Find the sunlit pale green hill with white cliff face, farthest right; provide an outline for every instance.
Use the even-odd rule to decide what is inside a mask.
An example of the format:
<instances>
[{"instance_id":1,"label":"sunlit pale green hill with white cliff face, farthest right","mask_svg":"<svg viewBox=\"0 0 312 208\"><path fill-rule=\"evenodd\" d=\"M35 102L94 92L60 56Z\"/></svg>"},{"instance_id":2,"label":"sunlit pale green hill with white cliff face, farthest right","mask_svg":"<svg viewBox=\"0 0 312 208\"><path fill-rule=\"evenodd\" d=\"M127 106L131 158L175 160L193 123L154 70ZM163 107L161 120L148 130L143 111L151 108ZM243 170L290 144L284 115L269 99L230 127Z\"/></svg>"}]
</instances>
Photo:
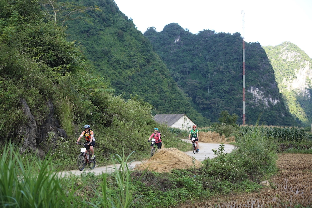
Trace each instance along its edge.
<instances>
[{"instance_id":1,"label":"sunlit pale green hill with white cliff face, farthest right","mask_svg":"<svg viewBox=\"0 0 312 208\"><path fill-rule=\"evenodd\" d=\"M312 60L298 46L284 42L264 47L287 107L298 123L312 123Z\"/></svg>"}]
</instances>

